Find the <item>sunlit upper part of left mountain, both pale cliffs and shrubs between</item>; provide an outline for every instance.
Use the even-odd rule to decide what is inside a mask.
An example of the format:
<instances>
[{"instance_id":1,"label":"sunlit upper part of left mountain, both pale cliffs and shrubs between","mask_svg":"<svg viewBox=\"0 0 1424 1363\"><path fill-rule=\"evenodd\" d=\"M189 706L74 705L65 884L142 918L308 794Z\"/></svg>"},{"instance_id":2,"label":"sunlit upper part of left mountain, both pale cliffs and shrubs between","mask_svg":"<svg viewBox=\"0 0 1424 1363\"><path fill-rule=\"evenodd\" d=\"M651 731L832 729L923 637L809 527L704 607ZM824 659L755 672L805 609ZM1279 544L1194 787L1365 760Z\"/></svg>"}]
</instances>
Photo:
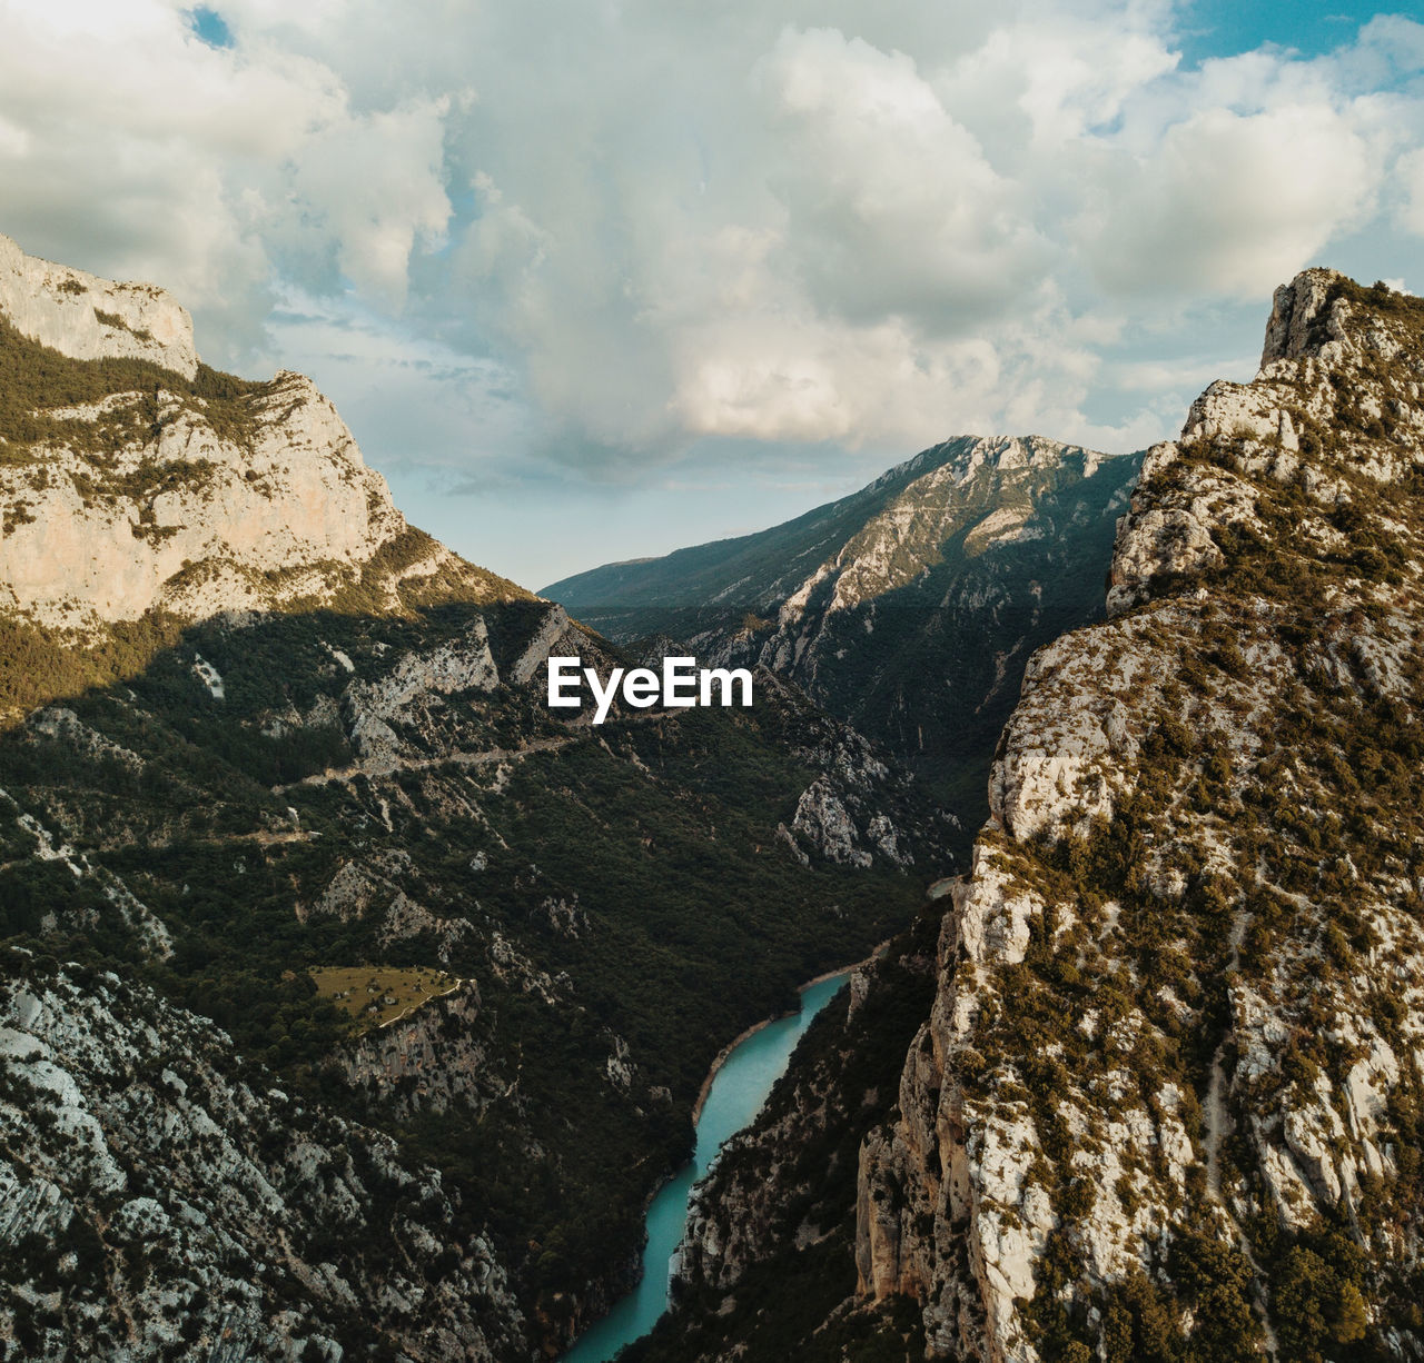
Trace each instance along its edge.
<instances>
[{"instance_id":1,"label":"sunlit upper part of left mountain, both pale cliffs and shrubs between","mask_svg":"<svg viewBox=\"0 0 1424 1363\"><path fill-rule=\"evenodd\" d=\"M31 344L17 368L47 364L56 388L85 394L7 394L0 610L94 637L155 612L205 619L355 590L376 608L430 583L524 595L406 525L309 378L199 374L188 314L162 290L0 238L0 320L7 346ZM147 364L95 368L115 360Z\"/></svg>"}]
</instances>

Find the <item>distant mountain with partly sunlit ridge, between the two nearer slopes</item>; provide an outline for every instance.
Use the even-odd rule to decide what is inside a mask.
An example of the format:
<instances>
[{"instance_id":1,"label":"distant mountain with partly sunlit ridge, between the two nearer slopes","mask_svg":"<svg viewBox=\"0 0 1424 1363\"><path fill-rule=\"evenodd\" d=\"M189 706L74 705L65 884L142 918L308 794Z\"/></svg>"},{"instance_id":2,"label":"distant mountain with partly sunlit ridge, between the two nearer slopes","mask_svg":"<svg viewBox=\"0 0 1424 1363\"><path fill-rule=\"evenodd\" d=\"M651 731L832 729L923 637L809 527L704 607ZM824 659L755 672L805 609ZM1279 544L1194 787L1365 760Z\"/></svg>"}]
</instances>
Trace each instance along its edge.
<instances>
[{"instance_id":1,"label":"distant mountain with partly sunlit ridge, between the two nearer slopes","mask_svg":"<svg viewBox=\"0 0 1424 1363\"><path fill-rule=\"evenodd\" d=\"M1030 654L1102 615L1139 464L965 435L773 529L543 590L611 639L776 670L977 827Z\"/></svg>"}]
</instances>

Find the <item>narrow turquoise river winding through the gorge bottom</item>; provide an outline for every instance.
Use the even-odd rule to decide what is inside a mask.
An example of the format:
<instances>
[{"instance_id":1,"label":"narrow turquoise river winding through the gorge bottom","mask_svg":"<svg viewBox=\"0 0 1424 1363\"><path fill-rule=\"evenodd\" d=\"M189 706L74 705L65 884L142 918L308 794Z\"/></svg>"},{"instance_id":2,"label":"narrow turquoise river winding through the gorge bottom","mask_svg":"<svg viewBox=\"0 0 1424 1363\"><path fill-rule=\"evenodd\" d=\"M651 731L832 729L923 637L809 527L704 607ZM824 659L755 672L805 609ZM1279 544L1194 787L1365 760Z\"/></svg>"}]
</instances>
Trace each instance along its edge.
<instances>
[{"instance_id":1,"label":"narrow turquoise river winding through the gorge bottom","mask_svg":"<svg viewBox=\"0 0 1424 1363\"><path fill-rule=\"evenodd\" d=\"M692 1162L658 1189L648 1206L648 1246L642 1252L642 1280L602 1320L582 1335L562 1363L607 1363L624 1345L641 1339L668 1308L668 1280L674 1251L688 1224L692 1185L706 1174L722 1142L736 1135L760 1111L772 1084L780 1077L810 1020L846 983L850 970L807 985L802 1009L778 1017L743 1037L712 1078Z\"/></svg>"}]
</instances>

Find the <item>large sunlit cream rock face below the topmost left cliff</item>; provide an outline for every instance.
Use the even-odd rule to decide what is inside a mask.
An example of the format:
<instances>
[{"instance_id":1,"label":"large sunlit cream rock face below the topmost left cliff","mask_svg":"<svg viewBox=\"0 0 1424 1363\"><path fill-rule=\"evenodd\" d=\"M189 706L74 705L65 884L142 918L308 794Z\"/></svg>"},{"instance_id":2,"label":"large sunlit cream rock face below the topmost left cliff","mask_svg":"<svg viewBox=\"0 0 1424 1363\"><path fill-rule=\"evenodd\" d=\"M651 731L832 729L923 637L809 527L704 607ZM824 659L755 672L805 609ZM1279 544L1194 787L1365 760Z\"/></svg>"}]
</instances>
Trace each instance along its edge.
<instances>
[{"instance_id":1,"label":"large sunlit cream rock face below the topmost left cliff","mask_svg":"<svg viewBox=\"0 0 1424 1363\"><path fill-rule=\"evenodd\" d=\"M6 605L83 629L158 608L205 617L320 599L406 531L384 478L299 374L278 376L255 404L248 448L175 398L159 398L158 420L157 440L117 451L112 495L63 448L4 470L4 497L30 516L0 539ZM159 484L147 504L121 494L144 478Z\"/></svg>"}]
</instances>

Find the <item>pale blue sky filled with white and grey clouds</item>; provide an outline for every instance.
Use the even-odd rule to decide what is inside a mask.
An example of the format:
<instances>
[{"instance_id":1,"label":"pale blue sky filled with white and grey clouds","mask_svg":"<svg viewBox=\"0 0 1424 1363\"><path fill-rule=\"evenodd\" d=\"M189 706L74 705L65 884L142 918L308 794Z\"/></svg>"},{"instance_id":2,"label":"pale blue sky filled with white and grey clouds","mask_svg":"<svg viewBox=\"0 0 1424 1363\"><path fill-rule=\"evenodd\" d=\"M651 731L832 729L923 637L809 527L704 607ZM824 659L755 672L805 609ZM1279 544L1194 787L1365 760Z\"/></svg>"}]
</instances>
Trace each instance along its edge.
<instances>
[{"instance_id":1,"label":"pale blue sky filled with white and grey clouds","mask_svg":"<svg viewBox=\"0 0 1424 1363\"><path fill-rule=\"evenodd\" d=\"M1415 11L1417 13L1417 11ZM525 586L953 435L1105 451L1424 292L1424 24L1225 0L0 0L0 232L312 374Z\"/></svg>"}]
</instances>

